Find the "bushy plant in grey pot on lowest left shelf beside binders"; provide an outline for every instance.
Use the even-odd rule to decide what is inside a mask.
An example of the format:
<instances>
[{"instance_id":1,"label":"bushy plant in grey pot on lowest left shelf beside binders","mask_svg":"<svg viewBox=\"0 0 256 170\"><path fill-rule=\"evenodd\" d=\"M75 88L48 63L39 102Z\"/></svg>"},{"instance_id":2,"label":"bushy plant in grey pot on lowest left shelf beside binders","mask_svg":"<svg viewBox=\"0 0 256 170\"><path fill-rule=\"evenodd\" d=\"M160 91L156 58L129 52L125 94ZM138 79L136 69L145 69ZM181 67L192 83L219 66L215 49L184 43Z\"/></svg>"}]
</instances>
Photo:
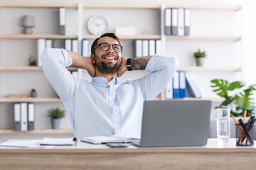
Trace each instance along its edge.
<instances>
[{"instance_id":1,"label":"bushy plant in grey pot on lowest left shelf beside binders","mask_svg":"<svg viewBox=\"0 0 256 170\"><path fill-rule=\"evenodd\" d=\"M51 118L51 125L53 129L60 128L60 120L65 117L65 111L61 111L60 108L52 108L50 109L49 117Z\"/></svg>"}]
</instances>

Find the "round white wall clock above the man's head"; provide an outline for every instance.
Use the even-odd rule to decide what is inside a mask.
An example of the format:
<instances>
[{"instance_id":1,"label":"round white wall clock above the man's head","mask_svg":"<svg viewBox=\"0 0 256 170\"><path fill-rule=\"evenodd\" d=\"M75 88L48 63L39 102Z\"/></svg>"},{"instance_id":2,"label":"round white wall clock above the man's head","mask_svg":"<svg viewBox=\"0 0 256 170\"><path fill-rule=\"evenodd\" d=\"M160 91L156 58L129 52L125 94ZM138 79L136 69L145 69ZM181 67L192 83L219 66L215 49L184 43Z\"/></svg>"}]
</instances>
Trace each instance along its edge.
<instances>
[{"instance_id":1,"label":"round white wall clock above the man's head","mask_svg":"<svg viewBox=\"0 0 256 170\"><path fill-rule=\"evenodd\" d=\"M107 20L102 16L92 16L87 22L87 29L91 34L102 35L107 30Z\"/></svg>"}]
</instances>

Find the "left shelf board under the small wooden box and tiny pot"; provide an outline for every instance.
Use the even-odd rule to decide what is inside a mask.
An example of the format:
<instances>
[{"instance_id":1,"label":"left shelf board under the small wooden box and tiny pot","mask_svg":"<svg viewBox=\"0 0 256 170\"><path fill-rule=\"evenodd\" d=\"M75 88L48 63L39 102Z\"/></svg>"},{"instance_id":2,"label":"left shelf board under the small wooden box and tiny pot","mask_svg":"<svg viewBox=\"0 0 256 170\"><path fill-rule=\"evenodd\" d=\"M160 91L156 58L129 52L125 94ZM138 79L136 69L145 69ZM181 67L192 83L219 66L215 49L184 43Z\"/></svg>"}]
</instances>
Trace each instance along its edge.
<instances>
[{"instance_id":1,"label":"left shelf board under the small wooden box and tiny pot","mask_svg":"<svg viewBox=\"0 0 256 170\"><path fill-rule=\"evenodd\" d=\"M14 102L34 102L34 103L52 103L61 102L60 98L0 98L0 103L14 103Z\"/></svg>"}]
</instances>

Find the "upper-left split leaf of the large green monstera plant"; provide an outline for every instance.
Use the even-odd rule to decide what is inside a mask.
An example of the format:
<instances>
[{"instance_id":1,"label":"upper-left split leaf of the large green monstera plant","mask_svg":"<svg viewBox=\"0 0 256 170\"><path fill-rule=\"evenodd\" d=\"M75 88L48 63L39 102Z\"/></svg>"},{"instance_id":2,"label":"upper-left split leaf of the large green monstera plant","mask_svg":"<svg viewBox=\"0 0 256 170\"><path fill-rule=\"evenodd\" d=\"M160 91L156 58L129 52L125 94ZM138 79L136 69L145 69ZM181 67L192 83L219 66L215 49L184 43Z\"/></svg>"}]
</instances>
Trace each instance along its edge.
<instances>
[{"instance_id":1,"label":"upper-left split leaf of the large green monstera plant","mask_svg":"<svg viewBox=\"0 0 256 170\"><path fill-rule=\"evenodd\" d=\"M223 79L213 79L210 82L215 84L215 85L211 85L211 87L215 88L213 89L213 91L216 92L218 96L223 98L228 97L228 91L227 91L228 81Z\"/></svg>"}]
</instances>

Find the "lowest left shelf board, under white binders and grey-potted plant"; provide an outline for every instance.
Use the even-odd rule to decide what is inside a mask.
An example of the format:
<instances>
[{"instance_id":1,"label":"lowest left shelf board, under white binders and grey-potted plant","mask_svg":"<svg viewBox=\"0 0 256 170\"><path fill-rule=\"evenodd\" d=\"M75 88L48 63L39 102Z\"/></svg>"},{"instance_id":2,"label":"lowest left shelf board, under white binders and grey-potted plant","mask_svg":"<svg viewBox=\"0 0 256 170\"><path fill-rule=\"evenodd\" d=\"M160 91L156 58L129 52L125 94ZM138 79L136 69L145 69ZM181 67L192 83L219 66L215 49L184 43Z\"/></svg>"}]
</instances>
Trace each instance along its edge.
<instances>
[{"instance_id":1,"label":"lowest left shelf board, under white binders and grey-potted plant","mask_svg":"<svg viewBox=\"0 0 256 170\"><path fill-rule=\"evenodd\" d=\"M63 135L73 135L73 130L71 130L71 129L39 129L39 130L17 131L17 130L11 130L11 129L1 129L0 134L2 134L2 135L19 135L19 134L31 134L31 135L63 134Z\"/></svg>"}]
</instances>

